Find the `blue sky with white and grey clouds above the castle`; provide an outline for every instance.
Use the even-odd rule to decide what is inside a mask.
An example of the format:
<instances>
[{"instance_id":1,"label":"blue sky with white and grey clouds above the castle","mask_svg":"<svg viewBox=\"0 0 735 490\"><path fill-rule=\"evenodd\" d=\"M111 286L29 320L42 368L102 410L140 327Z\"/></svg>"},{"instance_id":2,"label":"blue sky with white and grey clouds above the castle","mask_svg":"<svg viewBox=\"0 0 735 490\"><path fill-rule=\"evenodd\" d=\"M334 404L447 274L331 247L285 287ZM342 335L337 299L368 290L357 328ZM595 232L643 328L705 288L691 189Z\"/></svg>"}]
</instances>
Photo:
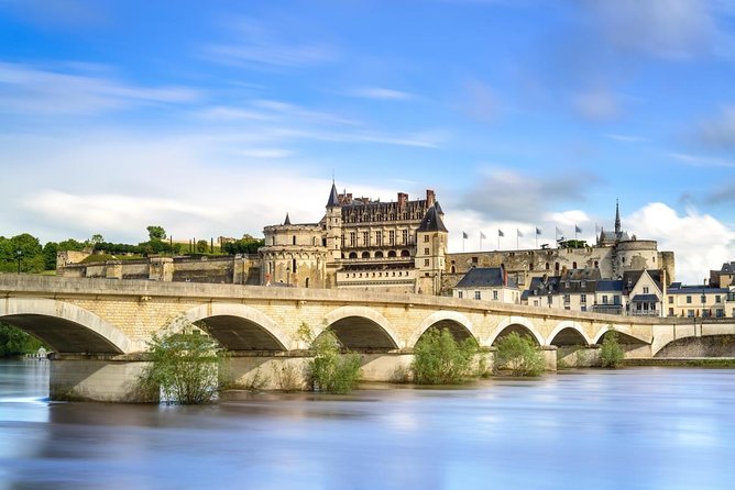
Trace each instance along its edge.
<instances>
[{"instance_id":1,"label":"blue sky with white and grey clouds above the castle","mask_svg":"<svg viewBox=\"0 0 735 490\"><path fill-rule=\"evenodd\" d=\"M450 252L619 200L698 283L735 260L734 81L728 0L0 0L0 235L260 237L334 179L434 189Z\"/></svg>"}]
</instances>

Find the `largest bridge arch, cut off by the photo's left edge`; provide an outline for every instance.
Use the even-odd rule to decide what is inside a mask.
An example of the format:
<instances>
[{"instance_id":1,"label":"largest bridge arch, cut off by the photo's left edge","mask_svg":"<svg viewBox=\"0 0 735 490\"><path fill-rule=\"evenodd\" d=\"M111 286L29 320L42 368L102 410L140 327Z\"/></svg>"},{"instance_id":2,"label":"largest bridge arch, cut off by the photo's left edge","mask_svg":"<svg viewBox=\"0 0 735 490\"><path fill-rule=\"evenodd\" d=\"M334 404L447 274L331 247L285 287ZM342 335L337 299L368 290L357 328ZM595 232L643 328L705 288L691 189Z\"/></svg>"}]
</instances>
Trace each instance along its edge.
<instances>
[{"instance_id":1,"label":"largest bridge arch, cut off by the photo's left edge","mask_svg":"<svg viewBox=\"0 0 735 490\"><path fill-rule=\"evenodd\" d=\"M45 298L0 301L0 321L67 354L130 354L144 350L113 324L76 304Z\"/></svg>"}]
</instances>

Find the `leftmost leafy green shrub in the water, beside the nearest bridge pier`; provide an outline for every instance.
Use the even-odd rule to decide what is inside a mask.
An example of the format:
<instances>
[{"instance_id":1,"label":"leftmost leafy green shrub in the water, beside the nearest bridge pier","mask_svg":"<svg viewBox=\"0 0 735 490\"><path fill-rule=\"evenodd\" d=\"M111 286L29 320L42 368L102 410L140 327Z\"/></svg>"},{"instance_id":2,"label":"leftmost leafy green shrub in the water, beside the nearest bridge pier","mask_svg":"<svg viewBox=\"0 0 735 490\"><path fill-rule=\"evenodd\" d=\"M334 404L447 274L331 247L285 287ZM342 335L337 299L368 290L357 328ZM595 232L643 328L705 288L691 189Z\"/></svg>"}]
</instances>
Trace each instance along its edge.
<instances>
[{"instance_id":1,"label":"leftmost leafy green shrub in the water, beside the nearest bridge pier","mask_svg":"<svg viewBox=\"0 0 735 490\"><path fill-rule=\"evenodd\" d=\"M213 338L199 333L154 335L149 342L150 366L139 382L160 390L166 402L211 403L219 389L222 349Z\"/></svg>"}]
</instances>

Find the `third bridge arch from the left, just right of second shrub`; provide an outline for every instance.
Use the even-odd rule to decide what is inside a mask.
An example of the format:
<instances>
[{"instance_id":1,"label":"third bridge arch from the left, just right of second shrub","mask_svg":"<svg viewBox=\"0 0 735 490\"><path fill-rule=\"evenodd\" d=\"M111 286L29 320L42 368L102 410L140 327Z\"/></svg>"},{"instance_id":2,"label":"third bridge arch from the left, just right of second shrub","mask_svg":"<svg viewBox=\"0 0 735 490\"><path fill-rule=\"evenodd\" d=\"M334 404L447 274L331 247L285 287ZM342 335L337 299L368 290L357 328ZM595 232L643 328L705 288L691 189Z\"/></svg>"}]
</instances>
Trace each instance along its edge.
<instances>
[{"instance_id":1,"label":"third bridge arch from the left, just right of second shrub","mask_svg":"<svg viewBox=\"0 0 735 490\"><path fill-rule=\"evenodd\" d=\"M393 350L401 346L391 323L372 308L341 307L327 313L322 323L352 350Z\"/></svg>"}]
</instances>

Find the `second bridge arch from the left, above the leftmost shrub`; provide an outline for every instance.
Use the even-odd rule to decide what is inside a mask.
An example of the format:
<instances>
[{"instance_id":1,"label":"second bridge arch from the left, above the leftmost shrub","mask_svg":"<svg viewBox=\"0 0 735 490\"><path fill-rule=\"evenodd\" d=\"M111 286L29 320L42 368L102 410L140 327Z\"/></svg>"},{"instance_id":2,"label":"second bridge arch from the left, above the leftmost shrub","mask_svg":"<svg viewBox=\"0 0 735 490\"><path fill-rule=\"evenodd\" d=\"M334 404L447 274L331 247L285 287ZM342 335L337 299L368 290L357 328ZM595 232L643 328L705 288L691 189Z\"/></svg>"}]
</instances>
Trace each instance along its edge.
<instances>
[{"instance_id":1,"label":"second bridge arch from the left, above the leftmost shrub","mask_svg":"<svg viewBox=\"0 0 735 490\"><path fill-rule=\"evenodd\" d=\"M186 321L204 321L207 332L228 350L290 350L295 347L292 337L273 319L244 304L200 304L168 327L177 332Z\"/></svg>"}]
</instances>

